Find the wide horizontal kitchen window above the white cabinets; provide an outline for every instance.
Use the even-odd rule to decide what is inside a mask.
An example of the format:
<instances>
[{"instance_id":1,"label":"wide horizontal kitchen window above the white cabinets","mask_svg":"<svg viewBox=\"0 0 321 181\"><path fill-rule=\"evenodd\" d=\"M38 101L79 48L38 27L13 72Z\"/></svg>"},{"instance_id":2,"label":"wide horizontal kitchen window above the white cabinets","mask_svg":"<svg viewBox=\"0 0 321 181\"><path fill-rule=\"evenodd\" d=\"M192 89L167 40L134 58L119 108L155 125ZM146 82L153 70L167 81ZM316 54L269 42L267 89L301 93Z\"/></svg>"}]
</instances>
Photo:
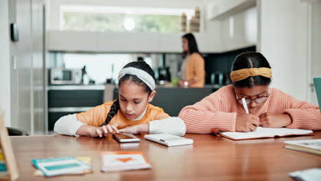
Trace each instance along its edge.
<instances>
[{"instance_id":1,"label":"wide horizontal kitchen window above the white cabinets","mask_svg":"<svg viewBox=\"0 0 321 181\"><path fill-rule=\"evenodd\" d=\"M62 5L60 29L87 32L181 32L181 15L192 9Z\"/></svg>"}]
</instances>

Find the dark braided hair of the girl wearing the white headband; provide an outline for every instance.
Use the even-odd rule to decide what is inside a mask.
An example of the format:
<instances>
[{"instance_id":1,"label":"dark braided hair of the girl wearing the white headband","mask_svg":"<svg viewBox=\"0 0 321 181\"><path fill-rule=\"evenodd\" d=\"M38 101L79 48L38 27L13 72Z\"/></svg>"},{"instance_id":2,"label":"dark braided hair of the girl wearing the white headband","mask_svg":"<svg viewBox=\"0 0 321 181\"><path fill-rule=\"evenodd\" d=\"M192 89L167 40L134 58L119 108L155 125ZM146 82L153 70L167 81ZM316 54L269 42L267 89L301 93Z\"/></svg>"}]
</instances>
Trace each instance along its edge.
<instances>
[{"instance_id":1,"label":"dark braided hair of the girl wearing the white headband","mask_svg":"<svg viewBox=\"0 0 321 181\"><path fill-rule=\"evenodd\" d=\"M130 62L130 63L126 64L123 67L123 69L127 68L127 67L134 67L136 69L141 69L141 70L147 72L148 74L150 74L153 77L153 79L155 80L155 73L154 73L153 69L150 67L150 65L148 65L146 62L143 62L143 61ZM119 80L118 87L121 86L121 83L128 81L128 80L130 80L131 82L134 82L135 84L137 84L139 86L143 86L145 92L148 93L148 95L150 95L150 93L152 93L152 89L150 89L150 87L147 86L147 84L145 84L145 82L140 80L139 77L137 77L136 75L128 75L128 74L124 75ZM119 98L117 98L116 101L110 107L110 111L107 114L106 121L102 125L108 125L108 123L112 119L112 117L114 117L115 114L117 114L117 111L119 110L119 108L120 108L119 107Z\"/></svg>"}]
</instances>

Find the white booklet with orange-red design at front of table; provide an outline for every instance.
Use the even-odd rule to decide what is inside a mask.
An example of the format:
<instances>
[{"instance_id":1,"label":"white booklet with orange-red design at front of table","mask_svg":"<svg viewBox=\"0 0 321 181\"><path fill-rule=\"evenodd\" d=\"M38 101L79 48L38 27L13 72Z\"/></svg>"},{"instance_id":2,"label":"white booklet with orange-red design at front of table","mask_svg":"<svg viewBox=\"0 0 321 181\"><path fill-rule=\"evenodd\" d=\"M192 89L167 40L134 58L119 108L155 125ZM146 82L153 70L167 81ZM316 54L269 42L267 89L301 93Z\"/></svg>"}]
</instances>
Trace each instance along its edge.
<instances>
[{"instance_id":1,"label":"white booklet with orange-red design at front of table","mask_svg":"<svg viewBox=\"0 0 321 181\"><path fill-rule=\"evenodd\" d=\"M150 169L143 152L103 152L102 171Z\"/></svg>"}]
</instances>

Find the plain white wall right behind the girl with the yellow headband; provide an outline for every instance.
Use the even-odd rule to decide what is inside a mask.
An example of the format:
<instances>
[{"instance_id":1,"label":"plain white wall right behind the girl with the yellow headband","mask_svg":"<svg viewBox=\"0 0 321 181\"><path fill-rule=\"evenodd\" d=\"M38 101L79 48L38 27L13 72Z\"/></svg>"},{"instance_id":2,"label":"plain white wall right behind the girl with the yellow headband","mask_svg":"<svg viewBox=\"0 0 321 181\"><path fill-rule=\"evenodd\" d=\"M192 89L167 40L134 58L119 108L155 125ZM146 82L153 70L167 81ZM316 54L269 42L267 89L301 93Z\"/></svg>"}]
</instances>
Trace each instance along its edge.
<instances>
[{"instance_id":1,"label":"plain white wall right behind the girl with the yellow headband","mask_svg":"<svg viewBox=\"0 0 321 181\"><path fill-rule=\"evenodd\" d=\"M259 43L272 67L272 87L307 100L308 4L300 0L259 0Z\"/></svg>"}]
</instances>

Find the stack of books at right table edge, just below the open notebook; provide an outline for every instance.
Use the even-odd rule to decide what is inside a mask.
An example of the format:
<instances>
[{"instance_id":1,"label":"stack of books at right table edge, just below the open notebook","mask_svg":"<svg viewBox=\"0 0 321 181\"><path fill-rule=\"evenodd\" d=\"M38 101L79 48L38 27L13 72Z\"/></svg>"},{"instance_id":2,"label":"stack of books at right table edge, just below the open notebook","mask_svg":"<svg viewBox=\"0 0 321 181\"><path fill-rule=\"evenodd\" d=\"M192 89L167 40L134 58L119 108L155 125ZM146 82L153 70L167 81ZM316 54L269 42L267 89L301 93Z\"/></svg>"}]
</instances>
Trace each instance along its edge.
<instances>
[{"instance_id":1,"label":"stack of books at right table edge, just below the open notebook","mask_svg":"<svg viewBox=\"0 0 321 181\"><path fill-rule=\"evenodd\" d=\"M321 155L321 139L309 139L298 141L285 141L288 149L294 149L300 152Z\"/></svg>"}]
</instances>

